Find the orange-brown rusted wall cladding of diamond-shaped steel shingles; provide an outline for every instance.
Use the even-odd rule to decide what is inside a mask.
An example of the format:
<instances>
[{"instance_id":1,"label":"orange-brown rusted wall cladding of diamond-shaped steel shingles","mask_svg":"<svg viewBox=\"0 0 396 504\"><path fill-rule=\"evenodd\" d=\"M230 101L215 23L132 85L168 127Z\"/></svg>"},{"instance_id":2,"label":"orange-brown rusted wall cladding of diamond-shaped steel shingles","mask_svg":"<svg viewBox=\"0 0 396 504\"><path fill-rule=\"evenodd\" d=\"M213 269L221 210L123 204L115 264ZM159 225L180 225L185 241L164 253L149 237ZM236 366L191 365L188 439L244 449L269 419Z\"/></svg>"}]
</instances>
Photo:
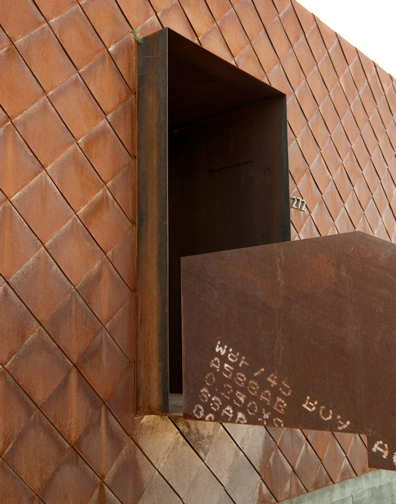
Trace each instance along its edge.
<instances>
[{"instance_id":1,"label":"orange-brown rusted wall cladding of diamond-shaped steel shingles","mask_svg":"<svg viewBox=\"0 0 396 504\"><path fill-rule=\"evenodd\" d=\"M369 469L360 435L134 417L140 36L287 95L292 239L396 238L396 81L290 0L0 3L0 501L276 502Z\"/></svg>"}]
</instances>

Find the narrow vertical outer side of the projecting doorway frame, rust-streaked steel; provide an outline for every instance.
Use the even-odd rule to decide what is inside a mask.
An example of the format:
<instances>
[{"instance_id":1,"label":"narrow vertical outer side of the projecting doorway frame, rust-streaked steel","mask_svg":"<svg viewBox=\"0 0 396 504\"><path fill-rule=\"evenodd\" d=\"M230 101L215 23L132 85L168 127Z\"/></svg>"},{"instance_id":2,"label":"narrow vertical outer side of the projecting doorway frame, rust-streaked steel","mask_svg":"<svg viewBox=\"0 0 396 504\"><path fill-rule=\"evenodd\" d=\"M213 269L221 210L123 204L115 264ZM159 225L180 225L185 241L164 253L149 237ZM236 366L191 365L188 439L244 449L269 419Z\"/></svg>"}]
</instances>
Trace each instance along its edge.
<instances>
[{"instance_id":1,"label":"narrow vertical outer side of the projecting doorway frame, rust-streaked steel","mask_svg":"<svg viewBox=\"0 0 396 504\"><path fill-rule=\"evenodd\" d=\"M139 47L137 409L168 410L168 34Z\"/></svg>"}]
</instances>

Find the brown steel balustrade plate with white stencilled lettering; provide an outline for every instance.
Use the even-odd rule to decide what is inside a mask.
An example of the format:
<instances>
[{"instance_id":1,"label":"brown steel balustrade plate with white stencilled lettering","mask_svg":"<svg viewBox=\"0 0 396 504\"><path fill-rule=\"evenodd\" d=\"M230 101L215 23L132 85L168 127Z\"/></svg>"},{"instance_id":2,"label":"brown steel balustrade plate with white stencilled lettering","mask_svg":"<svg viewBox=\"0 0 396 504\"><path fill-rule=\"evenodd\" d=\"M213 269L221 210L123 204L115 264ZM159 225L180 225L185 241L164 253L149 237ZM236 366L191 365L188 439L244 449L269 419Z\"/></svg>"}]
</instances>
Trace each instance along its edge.
<instances>
[{"instance_id":1,"label":"brown steel balustrade plate with white stencilled lettering","mask_svg":"<svg viewBox=\"0 0 396 504\"><path fill-rule=\"evenodd\" d=\"M395 264L359 232L182 258L184 416L364 433L396 469Z\"/></svg>"}]
</instances>

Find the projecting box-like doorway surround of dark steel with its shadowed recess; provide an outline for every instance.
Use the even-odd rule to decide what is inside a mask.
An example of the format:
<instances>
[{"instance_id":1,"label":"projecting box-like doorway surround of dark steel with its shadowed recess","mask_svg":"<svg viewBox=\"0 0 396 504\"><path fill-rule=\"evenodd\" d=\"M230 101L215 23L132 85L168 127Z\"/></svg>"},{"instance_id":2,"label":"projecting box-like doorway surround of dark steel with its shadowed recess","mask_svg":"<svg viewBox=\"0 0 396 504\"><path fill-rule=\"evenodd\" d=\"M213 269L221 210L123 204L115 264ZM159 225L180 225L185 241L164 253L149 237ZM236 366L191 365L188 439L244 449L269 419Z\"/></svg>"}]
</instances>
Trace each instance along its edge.
<instances>
[{"instance_id":1,"label":"projecting box-like doorway surround of dark steel with its shadowed recess","mask_svg":"<svg viewBox=\"0 0 396 504\"><path fill-rule=\"evenodd\" d=\"M138 53L137 405L182 392L180 257L290 239L286 97L170 29Z\"/></svg>"}]
</instances>

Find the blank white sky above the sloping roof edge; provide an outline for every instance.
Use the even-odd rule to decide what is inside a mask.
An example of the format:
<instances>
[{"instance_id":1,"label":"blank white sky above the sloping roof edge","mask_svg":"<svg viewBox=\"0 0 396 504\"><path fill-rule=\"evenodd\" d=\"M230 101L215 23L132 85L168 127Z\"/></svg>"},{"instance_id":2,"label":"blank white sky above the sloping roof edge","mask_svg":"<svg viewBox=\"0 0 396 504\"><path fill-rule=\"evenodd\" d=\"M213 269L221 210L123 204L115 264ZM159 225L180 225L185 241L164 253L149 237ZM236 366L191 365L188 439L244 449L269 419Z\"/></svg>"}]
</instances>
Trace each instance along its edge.
<instances>
[{"instance_id":1,"label":"blank white sky above the sloping roof edge","mask_svg":"<svg viewBox=\"0 0 396 504\"><path fill-rule=\"evenodd\" d=\"M396 77L396 0L298 0Z\"/></svg>"}]
</instances>

